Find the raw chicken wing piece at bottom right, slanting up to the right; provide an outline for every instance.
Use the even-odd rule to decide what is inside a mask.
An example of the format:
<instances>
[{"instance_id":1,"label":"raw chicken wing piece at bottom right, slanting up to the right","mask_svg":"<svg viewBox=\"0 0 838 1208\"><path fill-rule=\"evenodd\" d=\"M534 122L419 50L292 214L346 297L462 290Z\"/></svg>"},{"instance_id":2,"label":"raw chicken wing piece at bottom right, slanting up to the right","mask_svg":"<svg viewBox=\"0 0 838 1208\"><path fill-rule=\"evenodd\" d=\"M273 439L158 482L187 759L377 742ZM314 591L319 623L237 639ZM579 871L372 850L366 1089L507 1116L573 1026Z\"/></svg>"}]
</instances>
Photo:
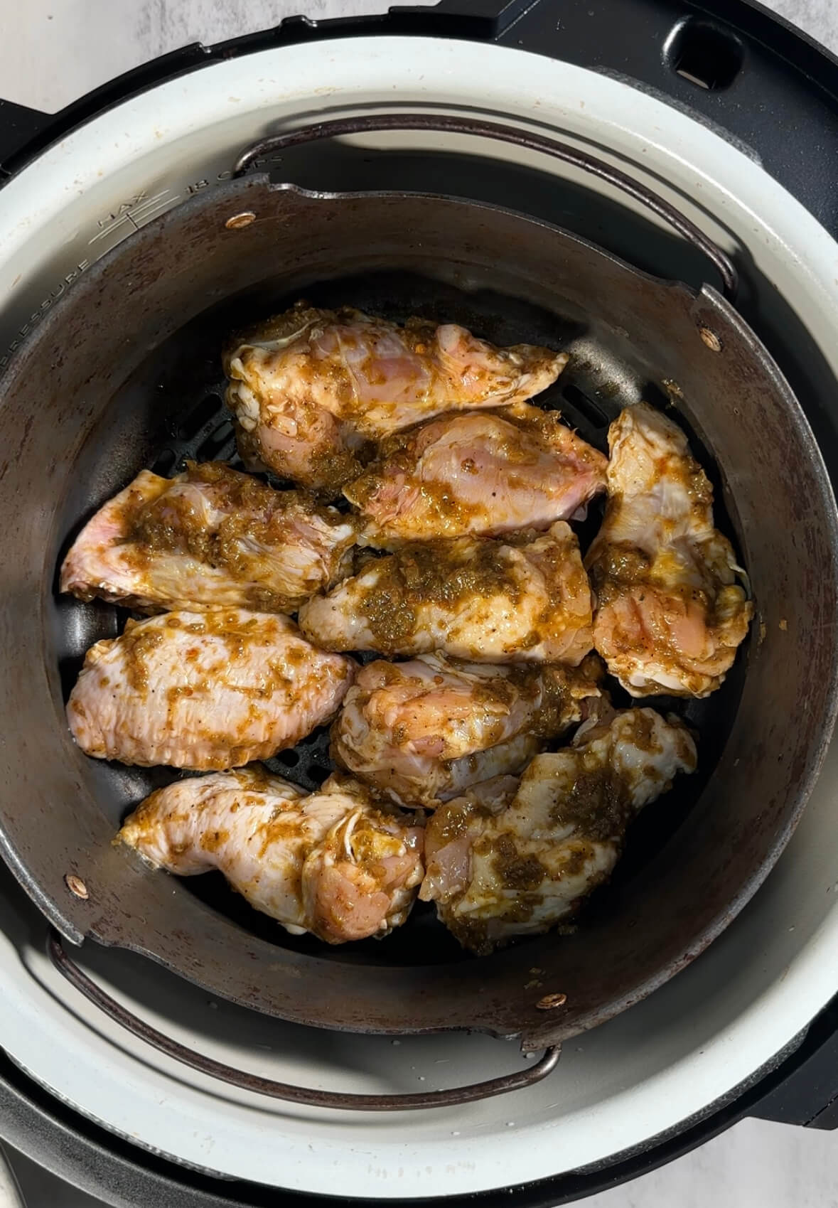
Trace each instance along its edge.
<instances>
[{"instance_id":1,"label":"raw chicken wing piece at bottom right, slanting up to the right","mask_svg":"<svg viewBox=\"0 0 838 1208\"><path fill-rule=\"evenodd\" d=\"M571 747L536 755L517 790L477 785L431 815L419 896L472 952L571 916L610 877L635 814L694 771L696 744L677 719L604 712Z\"/></svg>"}]
</instances>

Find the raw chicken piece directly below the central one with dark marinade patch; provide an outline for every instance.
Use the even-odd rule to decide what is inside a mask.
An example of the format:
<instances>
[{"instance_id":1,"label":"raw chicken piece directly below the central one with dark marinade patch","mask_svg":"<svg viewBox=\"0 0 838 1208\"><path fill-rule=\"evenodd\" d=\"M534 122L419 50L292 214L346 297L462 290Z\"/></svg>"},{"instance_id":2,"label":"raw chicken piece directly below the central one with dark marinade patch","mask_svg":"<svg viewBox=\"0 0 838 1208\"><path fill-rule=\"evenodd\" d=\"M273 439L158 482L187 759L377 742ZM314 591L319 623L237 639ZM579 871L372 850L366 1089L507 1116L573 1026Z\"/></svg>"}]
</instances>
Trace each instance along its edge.
<instances>
[{"instance_id":1,"label":"raw chicken piece directly below the central one with dark marinade patch","mask_svg":"<svg viewBox=\"0 0 838 1208\"><path fill-rule=\"evenodd\" d=\"M578 669L420 655L368 663L332 725L332 757L405 806L435 807L520 772L599 696L595 655Z\"/></svg>"}]
</instances>

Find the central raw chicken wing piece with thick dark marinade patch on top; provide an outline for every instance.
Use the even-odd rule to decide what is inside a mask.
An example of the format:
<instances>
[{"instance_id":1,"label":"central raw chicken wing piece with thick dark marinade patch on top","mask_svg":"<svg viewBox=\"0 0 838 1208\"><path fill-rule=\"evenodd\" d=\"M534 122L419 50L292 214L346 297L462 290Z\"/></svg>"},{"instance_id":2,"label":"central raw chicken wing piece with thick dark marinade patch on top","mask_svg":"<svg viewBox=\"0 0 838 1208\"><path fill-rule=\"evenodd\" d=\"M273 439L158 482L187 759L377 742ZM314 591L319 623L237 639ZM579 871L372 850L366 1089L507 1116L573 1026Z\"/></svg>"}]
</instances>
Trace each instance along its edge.
<instances>
[{"instance_id":1,"label":"central raw chicken wing piece with thick dark marinade patch on top","mask_svg":"<svg viewBox=\"0 0 838 1208\"><path fill-rule=\"evenodd\" d=\"M576 538L559 521L517 540L429 541L373 558L304 604L299 626L324 650L577 666L592 646L593 597Z\"/></svg>"}]
</instances>

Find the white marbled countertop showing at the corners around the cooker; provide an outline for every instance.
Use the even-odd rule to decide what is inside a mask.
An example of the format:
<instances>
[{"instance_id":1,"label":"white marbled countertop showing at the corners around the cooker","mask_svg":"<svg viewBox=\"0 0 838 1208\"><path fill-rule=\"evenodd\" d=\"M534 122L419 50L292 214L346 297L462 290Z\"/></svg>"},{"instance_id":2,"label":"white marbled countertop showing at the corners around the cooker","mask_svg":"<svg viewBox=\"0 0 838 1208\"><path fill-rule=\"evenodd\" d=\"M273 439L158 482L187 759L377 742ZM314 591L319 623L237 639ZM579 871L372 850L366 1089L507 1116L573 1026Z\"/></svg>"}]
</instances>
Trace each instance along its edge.
<instances>
[{"instance_id":1,"label":"white marbled countertop showing at the corners around the cooker","mask_svg":"<svg viewBox=\"0 0 838 1208\"><path fill-rule=\"evenodd\" d=\"M417 0L412 0L417 2ZM764 2L764 0L763 0ZM838 0L767 0L838 53ZM139 63L312 17L379 12L386 0L0 0L0 95L54 111ZM94 1202L12 1155L29 1208ZM586 1208L834 1208L838 1133L747 1120Z\"/></svg>"}]
</instances>

